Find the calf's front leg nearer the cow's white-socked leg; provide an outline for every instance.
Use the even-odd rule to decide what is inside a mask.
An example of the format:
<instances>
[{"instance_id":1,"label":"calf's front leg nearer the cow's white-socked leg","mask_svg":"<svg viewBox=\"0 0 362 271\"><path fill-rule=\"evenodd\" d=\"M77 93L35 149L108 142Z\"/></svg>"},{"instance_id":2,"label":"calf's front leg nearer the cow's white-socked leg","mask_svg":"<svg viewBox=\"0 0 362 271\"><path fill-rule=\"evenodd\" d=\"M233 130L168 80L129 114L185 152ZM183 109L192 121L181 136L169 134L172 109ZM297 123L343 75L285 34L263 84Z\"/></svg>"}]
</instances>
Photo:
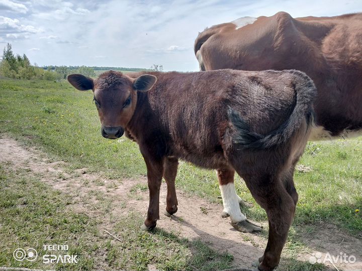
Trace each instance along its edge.
<instances>
[{"instance_id":1,"label":"calf's front leg nearer the cow's white-socked leg","mask_svg":"<svg viewBox=\"0 0 362 271\"><path fill-rule=\"evenodd\" d=\"M163 162L163 178L167 184L166 211L165 215L170 216L177 212L177 196L175 179L177 175L178 160L167 157Z\"/></svg>"}]
</instances>

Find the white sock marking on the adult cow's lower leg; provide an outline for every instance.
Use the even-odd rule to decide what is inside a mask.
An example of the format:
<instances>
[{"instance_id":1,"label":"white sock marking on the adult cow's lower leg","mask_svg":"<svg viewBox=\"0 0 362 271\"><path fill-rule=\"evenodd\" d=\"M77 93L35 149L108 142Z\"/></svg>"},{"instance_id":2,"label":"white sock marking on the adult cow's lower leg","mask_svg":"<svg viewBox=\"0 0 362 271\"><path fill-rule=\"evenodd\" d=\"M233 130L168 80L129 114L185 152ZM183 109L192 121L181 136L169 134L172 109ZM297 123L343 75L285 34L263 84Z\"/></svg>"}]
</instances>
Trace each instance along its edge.
<instances>
[{"instance_id":1,"label":"white sock marking on the adult cow's lower leg","mask_svg":"<svg viewBox=\"0 0 362 271\"><path fill-rule=\"evenodd\" d=\"M239 196L236 195L234 183L220 185L221 197L223 199L224 212L230 215L232 222L243 221L246 219L240 211ZM241 200L241 199L240 199Z\"/></svg>"}]
</instances>

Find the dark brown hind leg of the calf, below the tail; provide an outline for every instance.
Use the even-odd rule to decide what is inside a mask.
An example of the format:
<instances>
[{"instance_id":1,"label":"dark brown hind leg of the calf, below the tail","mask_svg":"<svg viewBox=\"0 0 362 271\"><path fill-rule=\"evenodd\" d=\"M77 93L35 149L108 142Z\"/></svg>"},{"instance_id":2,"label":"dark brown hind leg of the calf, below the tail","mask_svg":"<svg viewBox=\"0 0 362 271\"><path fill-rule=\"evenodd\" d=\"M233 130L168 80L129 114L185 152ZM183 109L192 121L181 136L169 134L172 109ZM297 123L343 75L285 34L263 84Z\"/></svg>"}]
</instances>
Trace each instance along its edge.
<instances>
[{"instance_id":1,"label":"dark brown hind leg of the calf, below the tail","mask_svg":"<svg viewBox=\"0 0 362 271\"><path fill-rule=\"evenodd\" d=\"M289 228L292 224L295 206L296 191L287 191L291 187L293 178L282 180L280 176L263 176L244 178L247 187L256 202L266 211L269 223L269 237L262 257L259 258L258 268L261 271L273 270L280 261L282 249L287 240ZM294 184L293 184L294 187Z\"/></svg>"}]
</instances>

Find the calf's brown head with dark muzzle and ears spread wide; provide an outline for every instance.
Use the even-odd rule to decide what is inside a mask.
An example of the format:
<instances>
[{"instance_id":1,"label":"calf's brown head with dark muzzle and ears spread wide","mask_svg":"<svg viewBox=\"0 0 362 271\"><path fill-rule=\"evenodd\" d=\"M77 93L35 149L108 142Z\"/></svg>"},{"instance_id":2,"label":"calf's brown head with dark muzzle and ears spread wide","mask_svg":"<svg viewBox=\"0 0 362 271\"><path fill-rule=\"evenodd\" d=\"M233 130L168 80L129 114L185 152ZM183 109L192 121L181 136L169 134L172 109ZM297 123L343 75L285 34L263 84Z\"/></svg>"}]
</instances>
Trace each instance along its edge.
<instances>
[{"instance_id":1,"label":"calf's brown head with dark muzzle and ears spread wide","mask_svg":"<svg viewBox=\"0 0 362 271\"><path fill-rule=\"evenodd\" d=\"M102 124L101 133L106 139L122 137L135 112L137 92L148 91L156 82L153 75L130 78L115 71L105 72L97 79L81 74L71 74L67 79L76 89L93 90Z\"/></svg>"}]
</instances>

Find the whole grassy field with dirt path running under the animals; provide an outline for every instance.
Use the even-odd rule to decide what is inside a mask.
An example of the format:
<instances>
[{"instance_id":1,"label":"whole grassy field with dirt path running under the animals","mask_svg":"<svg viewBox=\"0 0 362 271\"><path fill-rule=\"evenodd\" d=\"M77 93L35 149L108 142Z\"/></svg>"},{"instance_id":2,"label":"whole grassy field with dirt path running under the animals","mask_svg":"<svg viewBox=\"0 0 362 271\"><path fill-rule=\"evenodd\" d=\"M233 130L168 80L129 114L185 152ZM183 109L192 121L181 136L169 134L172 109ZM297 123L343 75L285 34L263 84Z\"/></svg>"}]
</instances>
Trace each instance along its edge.
<instances>
[{"instance_id":1,"label":"whole grassy field with dirt path running under the animals","mask_svg":"<svg viewBox=\"0 0 362 271\"><path fill-rule=\"evenodd\" d=\"M67 82L0 80L0 266L59 270L222 270L251 267L267 239L265 212L237 178L243 209L264 230L244 234L220 217L215 172L181 162L179 211L152 232L146 168L135 143L101 137L92 92ZM281 270L362 269L362 138L309 143L295 173L296 217ZM165 187L160 197L164 209ZM359 211L361 210L361 211ZM67 244L77 263L16 261L18 247ZM315 252L356 262L311 264ZM61 253L61 251L56 251ZM314 255L314 254L313 254Z\"/></svg>"}]
</instances>

